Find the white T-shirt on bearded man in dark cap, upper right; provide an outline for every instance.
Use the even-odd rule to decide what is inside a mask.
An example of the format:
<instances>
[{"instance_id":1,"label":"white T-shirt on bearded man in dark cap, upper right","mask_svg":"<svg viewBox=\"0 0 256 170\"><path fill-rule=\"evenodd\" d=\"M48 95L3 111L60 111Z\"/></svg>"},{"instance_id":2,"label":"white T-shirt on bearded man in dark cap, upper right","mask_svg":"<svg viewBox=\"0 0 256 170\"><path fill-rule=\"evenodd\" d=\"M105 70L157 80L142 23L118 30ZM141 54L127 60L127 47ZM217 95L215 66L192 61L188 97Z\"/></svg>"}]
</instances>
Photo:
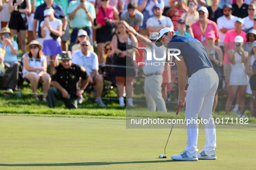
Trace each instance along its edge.
<instances>
[{"instance_id":1,"label":"white T-shirt on bearded man in dark cap, upper right","mask_svg":"<svg viewBox=\"0 0 256 170\"><path fill-rule=\"evenodd\" d=\"M230 19L227 19L225 16L221 16L217 19L217 25L219 30L222 28L234 29L237 19L237 16L231 16ZM220 31L220 46L223 46L225 35L225 33Z\"/></svg>"}]
</instances>

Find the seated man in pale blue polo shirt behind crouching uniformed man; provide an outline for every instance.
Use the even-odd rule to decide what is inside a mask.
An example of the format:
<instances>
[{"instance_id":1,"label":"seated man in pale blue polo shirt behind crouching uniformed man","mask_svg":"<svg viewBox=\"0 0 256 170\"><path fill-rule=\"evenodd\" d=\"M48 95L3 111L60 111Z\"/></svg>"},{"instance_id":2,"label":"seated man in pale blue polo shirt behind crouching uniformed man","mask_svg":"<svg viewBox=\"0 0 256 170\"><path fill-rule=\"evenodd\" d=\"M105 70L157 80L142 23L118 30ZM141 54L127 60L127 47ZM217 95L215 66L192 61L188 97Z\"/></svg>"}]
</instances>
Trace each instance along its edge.
<instances>
[{"instance_id":1,"label":"seated man in pale blue polo shirt behind crouching uniformed man","mask_svg":"<svg viewBox=\"0 0 256 170\"><path fill-rule=\"evenodd\" d=\"M100 98L103 90L103 78L98 74L99 63L97 54L89 50L91 45L90 41L83 40L80 44L81 50L77 50L72 54L72 62L83 66L87 73L91 75L90 83L96 85L95 103L101 106L106 106Z\"/></svg>"}]
</instances>

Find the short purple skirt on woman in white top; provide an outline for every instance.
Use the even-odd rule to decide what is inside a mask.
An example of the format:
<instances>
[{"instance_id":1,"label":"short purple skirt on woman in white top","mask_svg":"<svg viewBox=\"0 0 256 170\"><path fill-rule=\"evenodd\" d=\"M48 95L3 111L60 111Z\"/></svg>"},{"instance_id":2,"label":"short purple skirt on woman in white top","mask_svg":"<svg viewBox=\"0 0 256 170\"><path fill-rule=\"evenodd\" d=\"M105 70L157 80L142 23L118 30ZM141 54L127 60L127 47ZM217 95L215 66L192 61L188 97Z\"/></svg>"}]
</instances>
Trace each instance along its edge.
<instances>
[{"instance_id":1,"label":"short purple skirt on woman in white top","mask_svg":"<svg viewBox=\"0 0 256 170\"><path fill-rule=\"evenodd\" d=\"M44 40L42 52L45 55L56 56L62 54L62 47L57 40Z\"/></svg>"}]
</instances>

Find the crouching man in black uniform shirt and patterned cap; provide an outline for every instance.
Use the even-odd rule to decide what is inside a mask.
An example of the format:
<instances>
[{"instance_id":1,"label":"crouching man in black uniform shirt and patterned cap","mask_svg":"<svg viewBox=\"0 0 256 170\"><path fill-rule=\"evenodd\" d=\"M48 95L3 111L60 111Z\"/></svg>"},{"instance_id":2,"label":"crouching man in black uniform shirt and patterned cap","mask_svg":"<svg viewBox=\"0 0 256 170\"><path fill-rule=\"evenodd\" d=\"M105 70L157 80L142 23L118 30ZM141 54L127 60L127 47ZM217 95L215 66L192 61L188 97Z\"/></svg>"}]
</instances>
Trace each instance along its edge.
<instances>
[{"instance_id":1,"label":"crouching man in black uniform shirt and patterned cap","mask_svg":"<svg viewBox=\"0 0 256 170\"><path fill-rule=\"evenodd\" d=\"M52 87L48 91L48 106L55 107L56 98L64 101L68 109L78 108L78 97L83 94L89 83L89 76L83 66L72 64L71 52L62 51L62 63L55 67L52 73ZM83 84L77 88L79 78Z\"/></svg>"}]
</instances>

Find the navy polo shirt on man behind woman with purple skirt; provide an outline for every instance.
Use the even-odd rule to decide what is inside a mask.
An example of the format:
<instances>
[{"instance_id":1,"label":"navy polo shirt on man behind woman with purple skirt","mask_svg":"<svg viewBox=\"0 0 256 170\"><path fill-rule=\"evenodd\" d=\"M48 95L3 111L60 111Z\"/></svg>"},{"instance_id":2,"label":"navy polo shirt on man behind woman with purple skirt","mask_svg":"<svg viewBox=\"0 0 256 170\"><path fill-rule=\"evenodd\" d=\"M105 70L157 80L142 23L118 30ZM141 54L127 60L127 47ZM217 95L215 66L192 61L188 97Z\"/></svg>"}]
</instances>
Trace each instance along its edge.
<instances>
[{"instance_id":1,"label":"navy polo shirt on man behind woman with purple skirt","mask_svg":"<svg viewBox=\"0 0 256 170\"><path fill-rule=\"evenodd\" d=\"M36 12L35 12L35 16L34 16L34 19L39 20L38 36L39 36L40 38L42 38L42 36L41 36L40 23L45 19L44 10L45 10L45 7L46 7L46 6L47 6L46 3L43 3L42 5L39 5L39 6L36 8ZM66 14L64 13L64 11L63 11L63 9L62 9L62 6L59 6L59 5L57 5L56 3L53 3L53 4L52 4L52 8L53 8L54 11L55 11L55 13L54 13L55 18L57 18L57 19L65 18Z\"/></svg>"}]
</instances>

